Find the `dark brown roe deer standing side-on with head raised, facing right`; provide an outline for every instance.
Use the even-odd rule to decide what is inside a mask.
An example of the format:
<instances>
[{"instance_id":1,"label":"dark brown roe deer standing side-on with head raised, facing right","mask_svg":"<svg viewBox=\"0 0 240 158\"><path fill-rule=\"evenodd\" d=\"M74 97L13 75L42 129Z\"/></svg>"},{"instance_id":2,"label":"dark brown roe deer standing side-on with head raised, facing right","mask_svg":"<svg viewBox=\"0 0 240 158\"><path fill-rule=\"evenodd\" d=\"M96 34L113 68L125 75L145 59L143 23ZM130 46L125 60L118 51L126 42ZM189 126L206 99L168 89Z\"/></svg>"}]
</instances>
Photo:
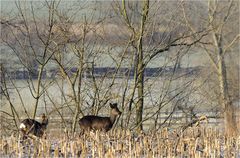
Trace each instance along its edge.
<instances>
[{"instance_id":1,"label":"dark brown roe deer standing side-on with head raised, facing right","mask_svg":"<svg viewBox=\"0 0 240 158\"><path fill-rule=\"evenodd\" d=\"M94 115L88 115L84 116L79 120L79 126L84 131L89 130L101 130L104 132L109 131L117 116L121 115L121 111L117 107L117 103L110 103L111 112L110 117L100 117L100 116L94 116Z\"/></svg>"}]
</instances>

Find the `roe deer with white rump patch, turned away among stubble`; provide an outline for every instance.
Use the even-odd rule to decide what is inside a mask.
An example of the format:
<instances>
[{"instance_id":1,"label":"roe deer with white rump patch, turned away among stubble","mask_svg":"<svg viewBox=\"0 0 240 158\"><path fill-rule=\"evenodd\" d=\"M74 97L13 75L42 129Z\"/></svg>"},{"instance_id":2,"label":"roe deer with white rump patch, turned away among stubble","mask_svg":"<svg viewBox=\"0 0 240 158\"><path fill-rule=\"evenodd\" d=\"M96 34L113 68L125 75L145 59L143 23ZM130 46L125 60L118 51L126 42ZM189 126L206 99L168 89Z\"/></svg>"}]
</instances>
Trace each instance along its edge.
<instances>
[{"instance_id":1,"label":"roe deer with white rump patch, turned away among stubble","mask_svg":"<svg viewBox=\"0 0 240 158\"><path fill-rule=\"evenodd\" d=\"M26 138L28 135L42 137L47 125L48 119L45 114L42 114L42 123L33 119L25 119L20 124L20 130L24 138Z\"/></svg>"}]
</instances>

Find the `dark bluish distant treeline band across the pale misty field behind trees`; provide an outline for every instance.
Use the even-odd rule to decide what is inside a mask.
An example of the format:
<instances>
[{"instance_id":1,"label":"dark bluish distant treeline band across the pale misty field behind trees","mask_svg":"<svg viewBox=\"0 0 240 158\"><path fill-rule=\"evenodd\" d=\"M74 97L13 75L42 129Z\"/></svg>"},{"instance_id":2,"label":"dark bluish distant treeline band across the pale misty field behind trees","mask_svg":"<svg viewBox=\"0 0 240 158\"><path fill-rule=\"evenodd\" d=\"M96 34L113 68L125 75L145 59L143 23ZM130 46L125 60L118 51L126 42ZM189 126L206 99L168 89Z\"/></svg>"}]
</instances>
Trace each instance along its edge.
<instances>
[{"instance_id":1,"label":"dark bluish distant treeline band across the pale misty field behind trees","mask_svg":"<svg viewBox=\"0 0 240 158\"><path fill-rule=\"evenodd\" d=\"M66 68L67 72L71 75L77 72L77 68ZM158 76L169 76L173 74L177 75L196 75L200 70L200 67L188 67L188 68L173 68L173 67L157 67L157 68L145 68L144 69L144 76L145 77L158 77ZM2 75L3 72L1 72ZM12 70L7 71L7 76L12 79L37 79L38 78L38 71L37 70ZM44 70L42 73L42 78L56 78L60 75L59 69L49 69ZM131 78L134 77L134 69L132 68L115 68L115 67L95 67L95 68L87 68L84 71L84 77L91 78L94 77L126 77L130 76Z\"/></svg>"}]
</instances>

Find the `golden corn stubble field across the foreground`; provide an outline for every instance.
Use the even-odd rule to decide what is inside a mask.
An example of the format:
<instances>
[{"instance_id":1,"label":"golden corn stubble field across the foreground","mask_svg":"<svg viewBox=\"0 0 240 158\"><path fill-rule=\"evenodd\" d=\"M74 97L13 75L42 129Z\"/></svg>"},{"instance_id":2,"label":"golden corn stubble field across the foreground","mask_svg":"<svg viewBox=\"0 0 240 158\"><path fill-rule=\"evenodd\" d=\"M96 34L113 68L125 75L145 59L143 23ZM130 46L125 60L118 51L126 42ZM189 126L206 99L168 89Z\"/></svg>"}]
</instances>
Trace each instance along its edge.
<instances>
[{"instance_id":1,"label":"golden corn stubble field across the foreground","mask_svg":"<svg viewBox=\"0 0 240 158\"><path fill-rule=\"evenodd\" d=\"M2 137L0 157L240 157L240 137L226 139L210 127L142 134L115 129L72 137L63 132L55 137L24 142Z\"/></svg>"}]
</instances>

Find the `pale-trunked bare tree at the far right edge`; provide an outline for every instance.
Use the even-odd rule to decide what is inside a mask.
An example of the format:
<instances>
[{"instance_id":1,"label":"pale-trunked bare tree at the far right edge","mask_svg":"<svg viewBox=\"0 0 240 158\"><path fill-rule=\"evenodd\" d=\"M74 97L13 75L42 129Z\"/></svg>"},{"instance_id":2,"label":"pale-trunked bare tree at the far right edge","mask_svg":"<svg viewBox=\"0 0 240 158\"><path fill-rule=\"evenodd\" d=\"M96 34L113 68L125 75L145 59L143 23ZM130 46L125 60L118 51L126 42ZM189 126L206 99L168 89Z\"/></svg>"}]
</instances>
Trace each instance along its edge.
<instances>
[{"instance_id":1,"label":"pale-trunked bare tree at the far right edge","mask_svg":"<svg viewBox=\"0 0 240 158\"><path fill-rule=\"evenodd\" d=\"M233 98L230 97L230 78L229 68L226 63L228 54L239 51L239 2L238 1L208 1L207 14L205 14L205 26L209 31L206 44L200 44L208 56L208 59L214 68L217 78L217 93L219 93L218 102L224 112L225 132L228 136L237 134L237 124L234 114ZM196 23L187 16L186 7L183 7L184 18L187 26L192 32L198 28ZM206 22L207 21L207 22ZM203 24L204 24L203 23ZM230 31L231 30L231 31ZM197 36L195 36L197 37ZM236 80L235 80L236 81ZM231 83L233 84L233 83ZM237 92L236 92L237 93Z\"/></svg>"}]
</instances>

